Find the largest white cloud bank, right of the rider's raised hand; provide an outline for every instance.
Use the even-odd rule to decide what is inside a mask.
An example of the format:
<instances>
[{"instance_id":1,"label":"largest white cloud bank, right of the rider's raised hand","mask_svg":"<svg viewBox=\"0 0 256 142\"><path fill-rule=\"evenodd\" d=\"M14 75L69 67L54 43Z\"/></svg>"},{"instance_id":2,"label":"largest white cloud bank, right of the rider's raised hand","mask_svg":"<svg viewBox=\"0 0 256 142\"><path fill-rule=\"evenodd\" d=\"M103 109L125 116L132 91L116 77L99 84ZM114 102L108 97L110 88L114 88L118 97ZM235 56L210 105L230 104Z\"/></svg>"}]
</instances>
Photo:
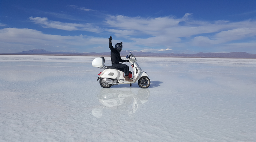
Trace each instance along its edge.
<instances>
[{"instance_id":1,"label":"largest white cloud bank, right of the rider's raised hand","mask_svg":"<svg viewBox=\"0 0 256 142\"><path fill-rule=\"evenodd\" d=\"M136 45L147 47L172 48L191 44L212 47L256 35L256 21L253 20L202 21L190 19L190 15L192 13L186 13L180 19L171 16L143 18L118 15L107 17L106 23L111 27L109 32L133 40ZM185 24L179 25L179 22Z\"/></svg>"}]
</instances>

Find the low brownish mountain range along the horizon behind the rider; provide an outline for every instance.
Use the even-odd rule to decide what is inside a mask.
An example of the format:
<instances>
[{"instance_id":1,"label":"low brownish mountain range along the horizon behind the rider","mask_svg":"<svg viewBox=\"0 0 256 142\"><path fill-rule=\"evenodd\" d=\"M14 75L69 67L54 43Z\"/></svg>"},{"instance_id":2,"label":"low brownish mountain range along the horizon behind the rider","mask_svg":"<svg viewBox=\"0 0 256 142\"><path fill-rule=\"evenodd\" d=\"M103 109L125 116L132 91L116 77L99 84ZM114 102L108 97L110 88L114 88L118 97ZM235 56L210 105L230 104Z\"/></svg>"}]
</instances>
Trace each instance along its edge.
<instances>
[{"instance_id":1,"label":"low brownish mountain range along the horizon behind the rider","mask_svg":"<svg viewBox=\"0 0 256 142\"><path fill-rule=\"evenodd\" d=\"M120 52L121 56L129 54L129 50ZM174 54L174 53L151 53L131 51L136 57L187 57L187 58L256 58L256 54L246 52L230 52L230 53L197 53L197 54ZM102 53L73 53L73 52L50 52L43 49L34 49L22 51L18 53L8 53L1 55L63 55L63 56L110 56L110 52Z\"/></svg>"}]
</instances>

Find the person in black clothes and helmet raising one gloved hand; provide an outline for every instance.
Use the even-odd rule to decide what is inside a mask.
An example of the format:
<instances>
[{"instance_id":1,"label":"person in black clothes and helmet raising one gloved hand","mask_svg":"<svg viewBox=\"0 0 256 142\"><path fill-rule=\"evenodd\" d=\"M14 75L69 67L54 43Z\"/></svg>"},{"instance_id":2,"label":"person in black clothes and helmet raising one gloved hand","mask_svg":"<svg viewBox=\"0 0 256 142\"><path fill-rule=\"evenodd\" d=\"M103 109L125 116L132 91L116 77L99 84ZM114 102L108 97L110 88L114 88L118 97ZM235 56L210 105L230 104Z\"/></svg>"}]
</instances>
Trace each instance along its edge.
<instances>
[{"instance_id":1,"label":"person in black clothes and helmet raising one gloved hand","mask_svg":"<svg viewBox=\"0 0 256 142\"><path fill-rule=\"evenodd\" d=\"M109 38L109 48L111 50L111 62L112 62L112 66L115 68L122 68L124 69L124 76L125 76L125 81L129 81L132 82L133 80L129 78L128 74L129 74L129 66L127 66L126 64L121 64L119 62L129 62L129 60L122 60L121 56L120 56L120 52L123 48L122 46L122 42L121 43L117 43L115 45L115 48L112 46L112 36L110 36Z\"/></svg>"}]
</instances>

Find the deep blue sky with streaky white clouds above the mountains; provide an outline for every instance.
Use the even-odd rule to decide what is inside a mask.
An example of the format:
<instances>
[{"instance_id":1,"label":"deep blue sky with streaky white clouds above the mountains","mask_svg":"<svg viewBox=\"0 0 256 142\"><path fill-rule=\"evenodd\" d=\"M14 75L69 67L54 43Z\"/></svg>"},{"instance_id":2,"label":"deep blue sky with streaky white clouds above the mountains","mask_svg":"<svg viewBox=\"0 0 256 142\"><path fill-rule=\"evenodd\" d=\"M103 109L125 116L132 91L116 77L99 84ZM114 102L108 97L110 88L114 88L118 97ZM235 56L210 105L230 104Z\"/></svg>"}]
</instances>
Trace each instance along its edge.
<instances>
[{"instance_id":1,"label":"deep blue sky with streaky white clouds above the mountains","mask_svg":"<svg viewBox=\"0 0 256 142\"><path fill-rule=\"evenodd\" d=\"M0 0L0 53L256 54L256 0Z\"/></svg>"}]
</instances>

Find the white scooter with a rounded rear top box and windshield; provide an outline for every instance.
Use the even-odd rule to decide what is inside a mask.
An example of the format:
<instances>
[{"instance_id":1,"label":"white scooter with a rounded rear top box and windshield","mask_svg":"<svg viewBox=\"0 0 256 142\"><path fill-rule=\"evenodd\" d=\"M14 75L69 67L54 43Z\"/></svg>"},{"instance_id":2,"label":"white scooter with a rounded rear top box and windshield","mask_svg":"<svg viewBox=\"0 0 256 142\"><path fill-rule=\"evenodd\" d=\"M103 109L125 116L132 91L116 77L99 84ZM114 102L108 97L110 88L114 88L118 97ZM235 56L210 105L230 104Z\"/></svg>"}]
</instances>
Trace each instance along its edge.
<instances>
[{"instance_id":1,"label":"white scooter with a rounded rear top box and windshield","mask_svg":"<svg viewBox=\"0 0 256 142\"><path fill-rule=\"evenodd\" d=\"M98 75L99 84L103 88L109 88L113 85L117 84L130 84L132 87L132 83L135 83L138 80L138 85L140 88L147 88L150 86L150 79L147 77L149 76L147 72L142 71L139 64L136 62L137 59L131 52L129 52L129 56L126 56L129 59L129 62L132 64L133 68L133 75L129 71L129 78L133 81L128 82L124 80L124 70L120 68L115 68L113 66L105 66L105 58L99 57L95 58L91 63L94 67L98 67L103 69Z\"/></svg>"}]
</instances>

